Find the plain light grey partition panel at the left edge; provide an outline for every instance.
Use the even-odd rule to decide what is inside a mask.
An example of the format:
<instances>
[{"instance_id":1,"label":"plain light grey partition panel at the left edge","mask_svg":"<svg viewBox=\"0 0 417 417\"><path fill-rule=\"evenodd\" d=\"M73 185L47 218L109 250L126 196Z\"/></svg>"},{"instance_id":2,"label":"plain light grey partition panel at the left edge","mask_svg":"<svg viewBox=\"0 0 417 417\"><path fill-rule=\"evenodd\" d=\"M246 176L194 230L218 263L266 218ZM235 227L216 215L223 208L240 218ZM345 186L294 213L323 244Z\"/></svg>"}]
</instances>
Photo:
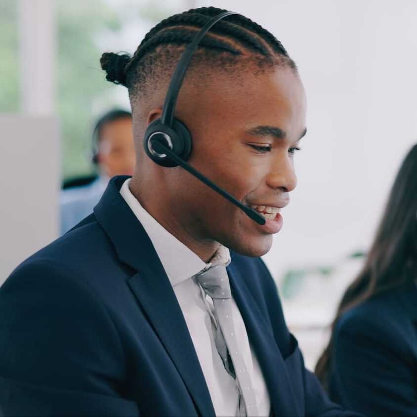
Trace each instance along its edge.
<instances>
[{"instance_id":1,"label":"plain light grey partition panel at the left edge","mask_svg":"<svg viewBox=\"0 0 417 417\"><path fill-rule=\"evenodd\" d=\"M0 285L58 235L60 158L52 117L0 115Z\"/></svg>"}]
</instances>

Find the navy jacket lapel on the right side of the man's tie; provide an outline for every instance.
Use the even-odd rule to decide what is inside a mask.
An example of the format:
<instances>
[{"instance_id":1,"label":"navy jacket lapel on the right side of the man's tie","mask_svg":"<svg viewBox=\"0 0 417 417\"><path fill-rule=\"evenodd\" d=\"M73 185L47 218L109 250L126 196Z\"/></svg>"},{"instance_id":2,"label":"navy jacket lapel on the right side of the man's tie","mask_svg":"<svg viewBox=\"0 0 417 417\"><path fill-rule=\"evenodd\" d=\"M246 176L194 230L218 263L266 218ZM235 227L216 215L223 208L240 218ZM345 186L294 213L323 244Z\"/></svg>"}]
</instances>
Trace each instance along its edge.
<instances>
[{"instance_id":1,"label":"navy jacket lapel on the right side of the man's tie","mask_svg":"<svg viewBox=\"0 0 417 417\"><path fill-rule=\"evenodd\" d=\"M292 394L287 368L272 329L267 325L240 272L233 266L233 263L227 269L233 298L242 314L250 344L256 353L268 387L273 414L275 416L298 416L299 411Z\"/></svg>"}]
</instances>

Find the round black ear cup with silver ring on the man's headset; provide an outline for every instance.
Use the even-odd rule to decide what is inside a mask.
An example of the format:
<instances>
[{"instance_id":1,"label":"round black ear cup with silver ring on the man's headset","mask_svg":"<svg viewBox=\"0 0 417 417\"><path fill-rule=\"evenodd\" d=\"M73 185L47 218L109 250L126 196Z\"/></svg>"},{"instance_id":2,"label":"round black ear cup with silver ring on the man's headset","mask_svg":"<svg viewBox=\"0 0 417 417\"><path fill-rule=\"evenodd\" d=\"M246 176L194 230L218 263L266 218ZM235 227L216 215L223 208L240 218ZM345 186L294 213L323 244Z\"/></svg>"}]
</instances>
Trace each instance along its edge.
<instances>
[{"instance_id":1,"label":"round black ear cup with silver ring on the man's headset","mask_svg":"<svg viewBox=\"0 0 417 417\"><path fill-rule=\"evenodd\" d=\"M165 146L169 146L179 158L186 161L191 153L191 134L186 125L177 119L173 120L172 127L163 125L161 120L153 121L145 132L143 145L146 154L156 164L162 167L177 167L177 164L167 156L160 156L152 152L151 140L161 140ZM170 143L168 143L168 140Z\"/></svg>"}]
</instances>

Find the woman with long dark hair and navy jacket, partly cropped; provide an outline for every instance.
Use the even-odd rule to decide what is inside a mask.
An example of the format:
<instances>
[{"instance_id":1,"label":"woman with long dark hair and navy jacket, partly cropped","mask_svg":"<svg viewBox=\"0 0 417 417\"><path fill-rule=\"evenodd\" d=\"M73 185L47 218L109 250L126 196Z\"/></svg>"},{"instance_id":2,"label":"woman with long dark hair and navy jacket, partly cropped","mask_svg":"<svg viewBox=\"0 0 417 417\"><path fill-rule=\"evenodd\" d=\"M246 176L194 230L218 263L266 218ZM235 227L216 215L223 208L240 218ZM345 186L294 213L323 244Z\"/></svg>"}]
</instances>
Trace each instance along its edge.
<instances>
[{"instance_id":1,"label":"woman with long dark hair and navy jacket, partly cropped","mask_svg":"<svg viewBox=\"0 0 417 417\"><path fill-rule=\"evenodd\" d=\"M375 241L344 293L316 375L335 402L369 416L417 416L417 145Z\"/></svg>"}]
</instances>

